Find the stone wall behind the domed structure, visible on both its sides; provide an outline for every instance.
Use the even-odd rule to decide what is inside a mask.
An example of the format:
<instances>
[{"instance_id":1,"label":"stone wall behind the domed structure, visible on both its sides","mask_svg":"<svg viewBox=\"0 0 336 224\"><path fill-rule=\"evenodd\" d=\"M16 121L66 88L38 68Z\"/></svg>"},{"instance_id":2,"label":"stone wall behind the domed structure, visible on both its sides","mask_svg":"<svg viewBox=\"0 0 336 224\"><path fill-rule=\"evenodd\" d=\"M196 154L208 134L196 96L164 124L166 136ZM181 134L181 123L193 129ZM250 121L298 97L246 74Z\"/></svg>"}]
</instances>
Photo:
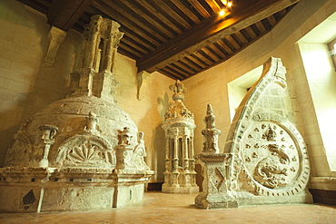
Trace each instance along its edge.
<instances>
[{"instance_id":1,"label":"stone wall behind the domed structure, visible on both its sides","mask_svg":"<svg viewBox=\"0 0 336 224\"><path fill-rule=\"evenodd\" d=\"M47 104L69 93L70 73L82 50L82 34L69 30L52 67L44 66L50 28L46 17L17 1L0 2L0 167L20 123ZM152 181L163 181L163 114L168 108L168 88L174 81L152 73L142 85L138 101L135 62L118 54L115 99L144 132L146 162L156 171Z\"/></svg>"}]
</instances>

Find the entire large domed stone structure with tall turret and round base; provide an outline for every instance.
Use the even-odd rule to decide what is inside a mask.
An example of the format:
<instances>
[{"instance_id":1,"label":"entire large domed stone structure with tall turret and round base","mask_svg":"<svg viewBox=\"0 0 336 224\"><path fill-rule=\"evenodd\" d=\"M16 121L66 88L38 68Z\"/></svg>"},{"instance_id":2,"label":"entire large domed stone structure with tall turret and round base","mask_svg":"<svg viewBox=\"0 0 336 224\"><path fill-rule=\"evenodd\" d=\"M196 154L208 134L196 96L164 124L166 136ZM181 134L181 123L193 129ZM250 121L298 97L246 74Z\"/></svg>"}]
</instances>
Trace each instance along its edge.
<instances>
[{"instance_id":1,"label":"entire large domed stone structure with tall turret and round base","mask_svg":"<svg viewBox=\"0 0 336 224\"><path fill-rule=\"evenodd\" d=\"M0 210L120 208L143 200L153 175L143 132L114 102L119 24L94 15L71 93L26 120L0 169Z\"/></svg>"}]
</instances>

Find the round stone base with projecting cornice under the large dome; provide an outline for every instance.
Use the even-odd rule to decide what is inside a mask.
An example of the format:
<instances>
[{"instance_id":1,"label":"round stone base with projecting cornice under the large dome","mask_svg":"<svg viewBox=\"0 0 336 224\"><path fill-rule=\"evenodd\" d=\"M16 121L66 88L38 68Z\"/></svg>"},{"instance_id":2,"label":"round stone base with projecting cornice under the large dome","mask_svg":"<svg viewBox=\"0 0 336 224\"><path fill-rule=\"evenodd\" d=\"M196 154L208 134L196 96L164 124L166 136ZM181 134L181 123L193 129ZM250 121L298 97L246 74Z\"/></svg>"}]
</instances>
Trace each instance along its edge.
<instances>
[{"instance_id":1,"label":"round stone base with projecting cornice under the large dome","mask_svg":"<svg viewBox=\"0 0 336 224\"><path fill-rule=\"evenodd\" d=\"M0 210L43 212L122 208L143 200L153 171L6 168Z\"/></svg>"}]
</instances>

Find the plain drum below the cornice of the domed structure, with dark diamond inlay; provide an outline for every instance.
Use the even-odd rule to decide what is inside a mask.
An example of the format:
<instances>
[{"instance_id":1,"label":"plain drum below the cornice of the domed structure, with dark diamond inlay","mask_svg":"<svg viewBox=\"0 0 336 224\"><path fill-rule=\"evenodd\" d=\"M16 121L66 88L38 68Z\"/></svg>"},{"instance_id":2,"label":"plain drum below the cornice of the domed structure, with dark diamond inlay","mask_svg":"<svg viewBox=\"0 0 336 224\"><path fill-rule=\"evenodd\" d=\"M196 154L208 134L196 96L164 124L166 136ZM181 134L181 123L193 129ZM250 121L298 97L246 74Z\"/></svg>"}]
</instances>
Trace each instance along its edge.
<instances>
[{"instance_id":1,"label":"plain drum below the cornice of the domed structure, with dark diamond inlay","mask_svg":"<svg viewBox=\"0 0 336 224\"><path fill-rule=\"evenodd\" d=\"M1 211L43 212L123 208L143 200L144 184L116 187L0 186Z\"/></svg>"}]
</instances>

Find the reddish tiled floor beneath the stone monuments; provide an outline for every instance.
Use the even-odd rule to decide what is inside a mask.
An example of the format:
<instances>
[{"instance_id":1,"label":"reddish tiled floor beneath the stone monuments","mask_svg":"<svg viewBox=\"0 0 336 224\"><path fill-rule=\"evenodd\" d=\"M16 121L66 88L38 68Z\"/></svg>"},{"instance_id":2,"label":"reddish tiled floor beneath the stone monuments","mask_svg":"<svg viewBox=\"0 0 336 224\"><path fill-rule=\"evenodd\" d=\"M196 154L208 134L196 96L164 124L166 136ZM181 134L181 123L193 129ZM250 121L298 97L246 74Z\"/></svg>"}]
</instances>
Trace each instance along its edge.
<instances>
[{"instance_id":1,"label":"reddish tiled floor beneath the stone monuments","mask_svg":"<svg viewBox=\"0 0 336 224\"><path fill-rule=\"evenodd\" d=\"M142 204L127 209L0 213L0 223L336 223L336 206L272 205L204 210L194 208L196 195L153 191L145 193Z\"/></svg>"}]
</instances>

